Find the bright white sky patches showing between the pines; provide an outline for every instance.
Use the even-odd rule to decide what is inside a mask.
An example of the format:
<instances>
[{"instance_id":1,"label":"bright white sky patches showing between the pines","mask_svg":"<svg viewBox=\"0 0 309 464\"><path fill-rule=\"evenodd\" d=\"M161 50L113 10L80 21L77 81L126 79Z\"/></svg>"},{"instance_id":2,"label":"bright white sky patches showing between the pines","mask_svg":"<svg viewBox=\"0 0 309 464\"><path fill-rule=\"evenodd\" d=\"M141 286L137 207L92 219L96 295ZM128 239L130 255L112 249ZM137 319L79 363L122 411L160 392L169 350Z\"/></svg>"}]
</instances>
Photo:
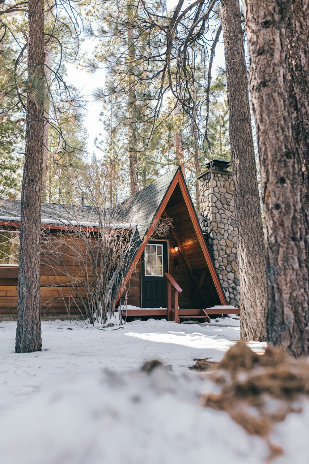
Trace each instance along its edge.
<instances>
[{"instance_id":1,"label":"bright white sky patches showing between the pines","mask_svg":"<svg viewBox=\"0 0 309 464\"><path fill-rule=\"evenodd\" d=\"M186 2L189 3L189 2ZM177 4L177 0L168 0L167 7L173 8ZM183 8L185 5L183 6ZM91 57L91 52L95 47L95 40L86 38L81 44L81 54L84 53L88 58ZM215 57L213 62L212 77L216 74L216 69L219 66L224 66L224 47L222 43L222 34L220 42L216 46ZM103 131L102 122L100 122L100 112L102 110L102 103L97 103L93 99L93 92L95 88L101 87L104 83L105 71L99 70L95 74L90 74L88 71L81 69L78 61L75 64L67 63L67 84L74 85L82 94L84 100L87 101L85 106L84 124L88 132L88 152L90 155L95 153L97 158L101 158L101 151L95 147L95 138L99 137Z\"/></svg>"}]
</instances>

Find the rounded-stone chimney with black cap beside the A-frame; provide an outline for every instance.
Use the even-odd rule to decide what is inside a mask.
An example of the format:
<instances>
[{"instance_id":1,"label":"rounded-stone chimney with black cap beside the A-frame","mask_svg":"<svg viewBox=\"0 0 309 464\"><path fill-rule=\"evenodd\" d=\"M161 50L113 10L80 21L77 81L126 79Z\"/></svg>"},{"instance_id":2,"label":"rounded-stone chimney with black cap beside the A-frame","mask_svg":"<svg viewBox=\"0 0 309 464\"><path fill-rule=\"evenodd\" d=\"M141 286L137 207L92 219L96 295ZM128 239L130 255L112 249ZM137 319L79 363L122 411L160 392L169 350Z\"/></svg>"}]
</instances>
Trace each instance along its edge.
<instances>
[{"instance_id":1,"label":"rounded-stone chimney with black cap beside the A-frame","mask_svg":"<svg viewBox=\"0 0 309 464\"><path fill-rule=\"evenodd\" d=\"M214 266L228 304L239 307L240 280L236 250L233 174L226 160L212 160L198 176L202 231L206 234Z\"/></svg>"}]
</instances>

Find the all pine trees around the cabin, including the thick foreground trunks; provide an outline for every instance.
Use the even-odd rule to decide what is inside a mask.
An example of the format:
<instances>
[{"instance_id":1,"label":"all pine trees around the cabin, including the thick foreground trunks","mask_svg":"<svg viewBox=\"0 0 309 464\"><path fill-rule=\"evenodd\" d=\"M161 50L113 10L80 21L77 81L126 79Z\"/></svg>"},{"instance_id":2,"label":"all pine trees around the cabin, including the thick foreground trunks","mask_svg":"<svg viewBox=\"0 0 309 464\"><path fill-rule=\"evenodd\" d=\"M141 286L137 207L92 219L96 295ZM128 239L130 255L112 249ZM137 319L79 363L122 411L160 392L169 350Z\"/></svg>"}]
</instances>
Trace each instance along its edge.
<instances>
[{"instance_id":1,"label":"all pine trees around the cabin, including the thick foreground trunks","mask_svg":"<svg viewBox=\"0 0 309 464\"><path fill-rule=\"evenodd\" d=\"M246 25L238 0L179 0L171 11L161 0L0 0L0 195L19 196L25 152L17 352L41 349L41 200L114 206L180 165L199 211L197 175L231 155L241 337L308 353L309 10L244 5ZM100 157L65 63L97 76Z\"/></svg>"}]
</instances>

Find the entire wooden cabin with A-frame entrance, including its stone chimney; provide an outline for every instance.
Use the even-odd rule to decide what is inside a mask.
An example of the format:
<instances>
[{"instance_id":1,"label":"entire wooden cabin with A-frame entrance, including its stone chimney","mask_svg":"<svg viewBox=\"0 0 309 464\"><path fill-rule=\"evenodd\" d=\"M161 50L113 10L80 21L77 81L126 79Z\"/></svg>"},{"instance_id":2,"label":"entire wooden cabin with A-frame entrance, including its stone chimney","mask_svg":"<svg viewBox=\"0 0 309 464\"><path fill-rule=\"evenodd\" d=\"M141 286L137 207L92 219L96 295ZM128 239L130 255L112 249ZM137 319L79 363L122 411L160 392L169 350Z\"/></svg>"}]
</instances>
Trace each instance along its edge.
<instances>
[{"instance_id":1,"label":"entire wooden cabin with A-frame entrance, including its stone chimney","mask_svg":"<svg viewBox=\"0 0 309 464\"><path fill-rule=\"evenodd\" d=\"M124 316L162 316L179 322L207 320L211 314L239 314L238 308L233 309L239 302L239 276L232 173L226 161L214 161L200 176L200 217L180 168L123 204L117 227L134 228L135 237L122 285L127 295ZM67 221L72 224L69 208L42 204L42 230L48 230L56 241ZM81 206L78 225L94 228L92 214L93 208ZM162 216L170 219L170 226L164 236L157 237L156 224ZM0 313L4 314L17 312L19 225L20 201L0 200ZM80 266L74 259L66 255L66 270L79 278ZM67 290L69 282L61 266L47 264L46 252L41 255L43 314L69 312L74 316L80 312L76 295ZM119 293L117 306L122 300Z\"/></svg>"}]
</instances>

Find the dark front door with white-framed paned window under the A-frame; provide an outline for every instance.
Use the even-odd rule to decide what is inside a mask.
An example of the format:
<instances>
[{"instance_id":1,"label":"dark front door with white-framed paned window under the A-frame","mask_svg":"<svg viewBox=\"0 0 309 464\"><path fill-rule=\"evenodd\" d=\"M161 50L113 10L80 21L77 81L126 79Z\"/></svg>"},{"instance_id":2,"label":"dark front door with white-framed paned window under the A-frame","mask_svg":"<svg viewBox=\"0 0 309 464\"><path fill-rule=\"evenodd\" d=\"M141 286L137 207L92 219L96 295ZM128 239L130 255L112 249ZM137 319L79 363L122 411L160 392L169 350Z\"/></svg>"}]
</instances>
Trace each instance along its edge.
<instances>
[{"instance_id":1,"label":"dark front door with white-framed paned window under the A-frame","mask_svg":"<svg viewBox=\"0 0 309 464\"><path fill-rule=\"evenodd\" d=\"M142 255L142 308L166 308L166 283L168 272L168 242L152 240Z\"/></svg>"}]
</instances>

